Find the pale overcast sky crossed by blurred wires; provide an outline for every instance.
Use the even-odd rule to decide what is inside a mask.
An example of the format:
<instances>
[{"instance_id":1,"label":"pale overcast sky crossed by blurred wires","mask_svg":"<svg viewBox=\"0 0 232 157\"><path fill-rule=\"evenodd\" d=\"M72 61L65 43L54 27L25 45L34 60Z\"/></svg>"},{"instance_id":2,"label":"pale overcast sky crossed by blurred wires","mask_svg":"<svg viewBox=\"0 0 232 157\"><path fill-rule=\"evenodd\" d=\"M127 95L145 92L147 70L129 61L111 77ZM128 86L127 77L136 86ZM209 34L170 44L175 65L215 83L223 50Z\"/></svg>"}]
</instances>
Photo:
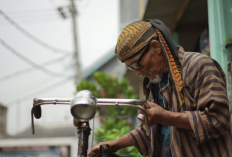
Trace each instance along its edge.
<instances>
[{"instance_id":1,"label":"pale overcast sky crossed by blurred wires","mask_svg":"<svg viewBox=\"0 0 232 157\"><path fill-rule=\"evenodd\" d=\"M82 69L114 48L117 0L75 0ZM34 98L73 98L73 32L69 0L0 0L0 103L8 107L7 131L30 126ZM62 19L57 7L64 7ZM61 49L66 51L54 51ZM45 68L45 69L44 69ZM37 123L72 122L69 106L42 107Z\"/></svg>"}]
</instances>

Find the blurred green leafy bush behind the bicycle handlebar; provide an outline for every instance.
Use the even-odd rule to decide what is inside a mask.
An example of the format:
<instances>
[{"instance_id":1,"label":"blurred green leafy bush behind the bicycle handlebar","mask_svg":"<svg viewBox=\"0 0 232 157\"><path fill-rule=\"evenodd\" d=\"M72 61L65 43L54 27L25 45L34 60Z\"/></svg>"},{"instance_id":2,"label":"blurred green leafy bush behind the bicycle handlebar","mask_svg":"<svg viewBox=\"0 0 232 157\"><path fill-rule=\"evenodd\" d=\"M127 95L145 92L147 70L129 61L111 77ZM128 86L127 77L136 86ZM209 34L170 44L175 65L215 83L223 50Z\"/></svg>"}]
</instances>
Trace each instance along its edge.
<instances>
[{"instance_id":1,"label":"blurred green leafy bush behind the bicycle handlebar","mask_svg":"<svg viewBox=\"0 0 232 157\"><path fill-rule=\"evenodd\" d=\"M77 91L90 90L97 98L128 98L136 99L133 88L126 78L121 81L117 77L111 77L104 72L93 74L96 84L83 80L77 85ZM131 107L98 107L102 125L95 133L97 142L115 140L127 132L134 129L133 117L137 114L137 109ZM117 152L119 155L140 156L135 147L127 147Z\"/></svg>"}]
</instances>

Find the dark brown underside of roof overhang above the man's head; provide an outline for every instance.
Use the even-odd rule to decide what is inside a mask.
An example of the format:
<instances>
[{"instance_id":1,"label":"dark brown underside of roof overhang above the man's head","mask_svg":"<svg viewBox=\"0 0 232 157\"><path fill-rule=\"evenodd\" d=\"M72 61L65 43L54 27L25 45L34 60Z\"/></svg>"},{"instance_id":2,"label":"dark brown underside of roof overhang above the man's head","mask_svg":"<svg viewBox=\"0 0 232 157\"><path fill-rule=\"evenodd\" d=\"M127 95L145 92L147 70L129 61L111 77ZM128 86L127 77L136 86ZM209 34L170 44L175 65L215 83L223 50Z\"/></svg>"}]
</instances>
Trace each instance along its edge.
<instances>
[{"instance_id":1,"label":"dark brown underside of roof overhang above the man's head","mask_svg":"<svg viewBox=\"0 0 232 157\"><path fill-rule=\"evenodd\" d=\"M207 0L149 0L143 19L159 19L178 32L186 51L199 51L199 37L208 27Z\"/></svg>"}]
</instances>

